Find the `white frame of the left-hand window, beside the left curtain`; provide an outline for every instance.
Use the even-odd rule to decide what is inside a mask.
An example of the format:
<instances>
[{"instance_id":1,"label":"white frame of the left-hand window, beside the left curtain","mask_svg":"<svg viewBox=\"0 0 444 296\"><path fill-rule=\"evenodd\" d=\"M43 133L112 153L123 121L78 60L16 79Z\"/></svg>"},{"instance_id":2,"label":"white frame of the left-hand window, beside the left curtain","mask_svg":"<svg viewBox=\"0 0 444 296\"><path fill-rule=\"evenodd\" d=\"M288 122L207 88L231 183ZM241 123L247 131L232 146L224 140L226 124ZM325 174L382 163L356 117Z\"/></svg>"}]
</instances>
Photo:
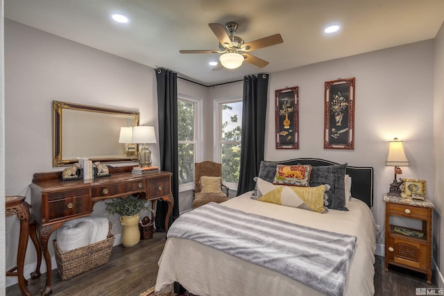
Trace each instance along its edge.
<instances>
[{"instance_id":1,"label":"white frame of the left-hand window, beside the left curtain","mask_svg":"<svg viewBox=\"0 0 444 296\"><path fill-rule=\"evenodd\" d=\"M202 162L203 154L202 154L202 126L203 122L203 99L202 98L194 98L191 96L186 96L184 94L178 94L178 101L187 101L190 103L194 103L194 141L180 141L178 139L178 144L186 143L186 144L194 144L194 160L195 162ZM189 191L194 189L194 181L179 184L179 192Z\"/></svg>"}]
</instances>

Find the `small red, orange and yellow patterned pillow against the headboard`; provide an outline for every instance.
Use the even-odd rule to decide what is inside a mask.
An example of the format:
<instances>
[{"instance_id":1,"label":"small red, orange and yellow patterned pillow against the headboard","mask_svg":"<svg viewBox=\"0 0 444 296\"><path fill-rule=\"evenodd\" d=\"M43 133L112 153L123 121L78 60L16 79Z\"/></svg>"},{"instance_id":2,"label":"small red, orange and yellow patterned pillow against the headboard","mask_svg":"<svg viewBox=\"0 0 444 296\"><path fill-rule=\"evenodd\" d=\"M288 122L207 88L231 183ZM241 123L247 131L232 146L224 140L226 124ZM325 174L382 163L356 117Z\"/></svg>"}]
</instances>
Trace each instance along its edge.
<instances>
[{"instance_id":1,"label":"small red, orange and yellow patterned pillow against the headboard","mask_svg":"<svg viewBox=\"0 0 444 296\"><path fill-rule=\"evenodd\" d=\"M273 184L308 187L311 166L276 166Z\"/></svg>"}]
</instances>

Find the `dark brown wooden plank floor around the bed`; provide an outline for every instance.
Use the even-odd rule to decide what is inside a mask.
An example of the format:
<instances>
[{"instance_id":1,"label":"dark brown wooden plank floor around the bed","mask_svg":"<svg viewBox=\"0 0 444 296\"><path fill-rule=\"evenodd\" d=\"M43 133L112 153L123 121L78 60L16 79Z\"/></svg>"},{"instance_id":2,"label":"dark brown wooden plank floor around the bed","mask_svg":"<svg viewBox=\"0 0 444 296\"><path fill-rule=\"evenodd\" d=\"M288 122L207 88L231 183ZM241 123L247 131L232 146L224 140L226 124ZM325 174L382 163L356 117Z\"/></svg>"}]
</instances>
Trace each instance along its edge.
<instances>
[{"instance_id":1,"label":"dark brown wooden plank floor around the bed","mask_svg":"<svg viewBox=\"0 0 444 296\"><path fill-rule=\"evenodd\" d=\"M117 245L112 248L110 261L90 272L62 281L53 270L53 294L66 296L139 296L140 293L155 285L157 261L165 243L164 233L155 233L153 238L140 241L135 247L125 248ZM32 295L40 295L44 288L46 274L40 279L28 281ZM417 272L390 265L384 271L384 257L375 256L375 295L376 296L415 296L416 288L438 287L436 279L432 286L426 284L426 277ZM6 288L6 295L20 296L17 285Z\"/></svg>"}]
</instances>

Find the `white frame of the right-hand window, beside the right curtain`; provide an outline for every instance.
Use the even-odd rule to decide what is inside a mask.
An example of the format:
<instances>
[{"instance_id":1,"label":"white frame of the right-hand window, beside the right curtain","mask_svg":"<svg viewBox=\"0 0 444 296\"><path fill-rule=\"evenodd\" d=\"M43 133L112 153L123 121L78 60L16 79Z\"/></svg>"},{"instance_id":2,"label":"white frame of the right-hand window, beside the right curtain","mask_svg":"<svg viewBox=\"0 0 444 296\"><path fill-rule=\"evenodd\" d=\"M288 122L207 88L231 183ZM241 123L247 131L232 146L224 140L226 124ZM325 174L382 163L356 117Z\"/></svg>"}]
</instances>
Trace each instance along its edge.
<instances>
[{"instance_id":1,"label":"white frame of the right-hand window, beside the right curtain","mask_svg":"<svg viewBox=\"0 0 444 296\"><path fill-rule=\"evenodd\" d=\"M228 98L217 98L213 103L213 111L214 114L214 124L213 124L213 134L217 134L217 137L214 137L214 162L219 162L222 164L222 144L223 143L237 143L237 141L222 141L222 105L227 103L238 103L243 102L242 96L232 96ZM242 105L244 107L244 105ZM242 123L241 123L242 124ZM240 145L241 143L239 143ZM222 164L223 165L223 164ZM238 183L233 182L223 182L225 186L228 186L230 190L237 190Z\"/></svg>"}]
</instances>

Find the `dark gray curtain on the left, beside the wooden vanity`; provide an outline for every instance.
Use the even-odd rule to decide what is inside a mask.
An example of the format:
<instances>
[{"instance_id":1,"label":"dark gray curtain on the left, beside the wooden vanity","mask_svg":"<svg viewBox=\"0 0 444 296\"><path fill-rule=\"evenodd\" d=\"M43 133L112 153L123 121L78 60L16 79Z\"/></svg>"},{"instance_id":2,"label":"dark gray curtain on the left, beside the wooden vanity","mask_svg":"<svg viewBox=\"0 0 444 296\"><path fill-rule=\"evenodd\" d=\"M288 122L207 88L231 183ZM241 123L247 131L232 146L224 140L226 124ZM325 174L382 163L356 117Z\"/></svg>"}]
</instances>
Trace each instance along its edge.
<instances>
[{"instance_id":1,"label":"dark gray curtain on the left, beside the wooden vanity","mask_svg":"<svg viewBox=\"0 0 444 296\"><path fill-rule=\"evenodd\" d=\"M157 78L157 105L159 121L160 168L173 173L171 189L174 207L169 225L179 217L178 180L178 75L167 69L155 69ZM157 232L165 232L168 204L157 201L155 226Z\"/></svg>"}]
</instances>

